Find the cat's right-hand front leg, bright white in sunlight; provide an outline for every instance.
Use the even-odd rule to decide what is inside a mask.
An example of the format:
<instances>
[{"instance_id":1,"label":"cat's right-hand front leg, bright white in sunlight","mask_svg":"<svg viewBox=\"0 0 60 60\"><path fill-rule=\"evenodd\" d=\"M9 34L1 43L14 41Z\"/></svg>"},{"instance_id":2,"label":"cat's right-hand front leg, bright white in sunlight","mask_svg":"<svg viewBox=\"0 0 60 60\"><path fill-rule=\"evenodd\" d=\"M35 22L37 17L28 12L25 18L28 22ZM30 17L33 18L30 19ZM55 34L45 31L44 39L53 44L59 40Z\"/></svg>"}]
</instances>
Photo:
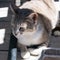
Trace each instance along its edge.
<instances>
[{"instance_id":1,"label":"cat's right-hand front leg, bright white in sunlight","mask_svg":"<svg viewBox=\"0 0 60 60\"><path fill-rule=\"evenodd\" d=\"M31 55L31 56L41 56L42 51L43 51L44 49L47 49L47 46L40 46L40 47L38 47L38 48L36 48L36 49L29 49L30 55Z\"/></svg>"}]
</instances>

